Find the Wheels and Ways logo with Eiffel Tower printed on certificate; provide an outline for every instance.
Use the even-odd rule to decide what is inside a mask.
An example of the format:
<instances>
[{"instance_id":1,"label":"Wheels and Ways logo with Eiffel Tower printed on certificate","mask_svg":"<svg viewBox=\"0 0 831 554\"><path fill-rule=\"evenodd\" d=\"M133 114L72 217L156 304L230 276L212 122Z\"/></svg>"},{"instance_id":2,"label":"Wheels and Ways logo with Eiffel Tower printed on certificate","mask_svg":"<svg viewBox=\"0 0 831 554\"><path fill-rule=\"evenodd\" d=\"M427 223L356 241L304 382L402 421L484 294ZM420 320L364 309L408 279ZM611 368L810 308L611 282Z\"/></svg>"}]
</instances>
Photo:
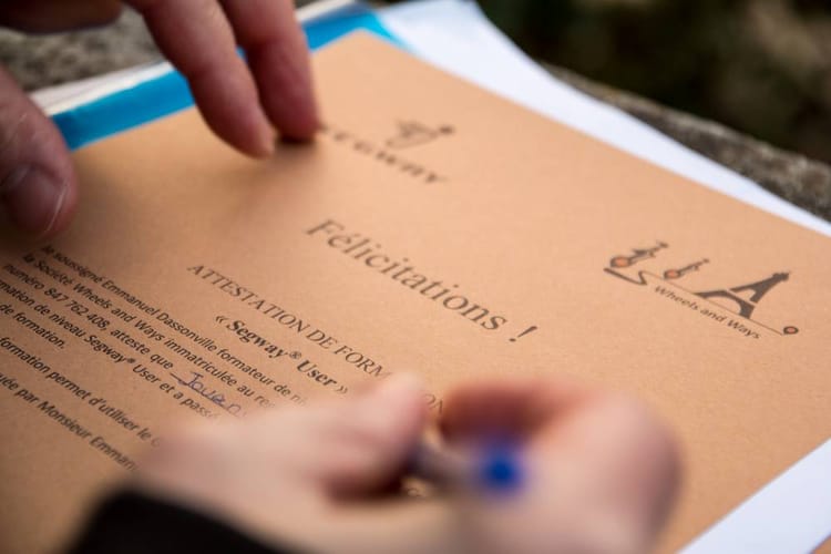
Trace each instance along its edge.
<instances>
[{"instance_id":1,"label":"Wheels and Ways logo with Eiffel Tower printed on certificate","mask_svg":"<svg viewBox=\"0 0 831 554\"><path fill-rule=\"evenodd\" d=\"M646 248L633 248L630 254L612 257L608 267L605 267L603 270L633 285L654 285L655 293L660 296L697 311L709 319L725 324L750 338L760 338L761 329L767 329L781 336L799 332L799 328L792 325L778 327L755 319L756 309L762 299L779 284L787 281L790 274L776 273L770 277L749 284L696 291L683 287L678 281L690 273L700 271L710 264L710 260L707 258L694 260L681 267L669 267L658 271L635 268L638 264L658 258L660 253L667 248L669 248L669 245L663 242L657 242L655 245ZM731 316L738 316L741 319ZM752 325L748 325L748 322Z\"/></svg>"}]
</instances>

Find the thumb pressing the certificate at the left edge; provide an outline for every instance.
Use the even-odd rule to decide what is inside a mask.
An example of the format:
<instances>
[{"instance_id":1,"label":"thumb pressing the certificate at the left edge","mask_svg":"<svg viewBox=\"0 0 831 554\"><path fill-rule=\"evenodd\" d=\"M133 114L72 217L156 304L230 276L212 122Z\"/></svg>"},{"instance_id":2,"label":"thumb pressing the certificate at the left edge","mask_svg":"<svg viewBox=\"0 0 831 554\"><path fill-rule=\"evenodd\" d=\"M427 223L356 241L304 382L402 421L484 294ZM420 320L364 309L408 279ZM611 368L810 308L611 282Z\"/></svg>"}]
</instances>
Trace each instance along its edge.
<instances>
[{"instance_id":1,"label":"thumb pressing the certificate at the left edge","mask_svg":"<svg viewBox=\"0 0 831 554\"><path fill-rule=\"evenodd\" d=\"M0 68L0 214L28 235L64 228L78 183L58 129Z\"/></svg>"}]
</instances>

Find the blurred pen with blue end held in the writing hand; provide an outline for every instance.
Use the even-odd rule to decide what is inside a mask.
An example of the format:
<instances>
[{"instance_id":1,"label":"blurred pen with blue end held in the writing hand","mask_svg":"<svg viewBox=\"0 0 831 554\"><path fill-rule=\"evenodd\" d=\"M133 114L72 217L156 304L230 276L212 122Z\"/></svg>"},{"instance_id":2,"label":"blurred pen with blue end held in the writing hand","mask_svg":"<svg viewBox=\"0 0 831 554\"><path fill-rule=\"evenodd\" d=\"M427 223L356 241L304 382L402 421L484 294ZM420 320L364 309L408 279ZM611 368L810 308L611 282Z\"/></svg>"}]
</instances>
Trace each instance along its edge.
<instances>
[{"instance_id":1,"label":"blurred pen with blue end held in the writing hand","mask_svg":"<svg viewBox=\"0 0 831 554\"><path fill-rule=\"evenodd\" d=\"M525 478L519 449L502 443L465 455L422 442L410 459L409 474L442 489L486 493L515 492Z\"/></svg>"}]
</instances>

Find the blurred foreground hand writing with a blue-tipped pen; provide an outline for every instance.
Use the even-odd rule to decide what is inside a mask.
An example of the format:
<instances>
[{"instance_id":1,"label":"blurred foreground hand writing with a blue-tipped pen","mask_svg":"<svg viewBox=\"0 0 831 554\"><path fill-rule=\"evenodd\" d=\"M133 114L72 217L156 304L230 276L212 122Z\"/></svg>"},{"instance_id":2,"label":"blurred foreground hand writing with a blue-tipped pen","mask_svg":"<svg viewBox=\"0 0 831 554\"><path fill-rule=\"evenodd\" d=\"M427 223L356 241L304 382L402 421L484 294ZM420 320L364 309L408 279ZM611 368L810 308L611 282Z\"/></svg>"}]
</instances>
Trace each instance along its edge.
<instances>
[{"instance_id":1,"label":"blurred foreground hand writing with a blue-tipped pen","mask_svg":"<svg viewBox=\"0 0 831 554\"><path fill-rule=\"evenodd\" d=\"M140 464L136 486L318 552L649 550L678 470L668 432L640 404L550 381L460 389L441 421L449 448L512 435L521 490L393 496L424 430L422 398L393 377L355 398L183 428Z\"/></svg>"}]
</instances>

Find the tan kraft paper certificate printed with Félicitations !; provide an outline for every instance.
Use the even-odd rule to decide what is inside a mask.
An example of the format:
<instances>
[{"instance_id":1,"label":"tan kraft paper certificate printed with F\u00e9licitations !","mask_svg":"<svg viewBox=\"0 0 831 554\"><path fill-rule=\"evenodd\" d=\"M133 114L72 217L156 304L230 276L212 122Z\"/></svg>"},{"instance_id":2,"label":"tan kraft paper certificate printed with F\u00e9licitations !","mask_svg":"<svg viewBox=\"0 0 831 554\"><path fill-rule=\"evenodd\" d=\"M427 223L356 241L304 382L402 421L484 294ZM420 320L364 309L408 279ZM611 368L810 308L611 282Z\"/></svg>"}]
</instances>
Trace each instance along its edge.
<instances>
[{"instance_id":1,"label":"tan kraft paper certificate printed with F\u00e9licitations !","mask_svg":"<svg viewBox=\"0 0 831 554\"><path fill-rule=\"evenodd\" d=\"M183 418L418 371L634 392L686 455L676 548L831 434L831 242L366 35L268 162L194 111L74 156L81 211L0 250L0 550L65 540ZM382 417L382 414L379 414Z\"/></svg>"}]
</instances>

